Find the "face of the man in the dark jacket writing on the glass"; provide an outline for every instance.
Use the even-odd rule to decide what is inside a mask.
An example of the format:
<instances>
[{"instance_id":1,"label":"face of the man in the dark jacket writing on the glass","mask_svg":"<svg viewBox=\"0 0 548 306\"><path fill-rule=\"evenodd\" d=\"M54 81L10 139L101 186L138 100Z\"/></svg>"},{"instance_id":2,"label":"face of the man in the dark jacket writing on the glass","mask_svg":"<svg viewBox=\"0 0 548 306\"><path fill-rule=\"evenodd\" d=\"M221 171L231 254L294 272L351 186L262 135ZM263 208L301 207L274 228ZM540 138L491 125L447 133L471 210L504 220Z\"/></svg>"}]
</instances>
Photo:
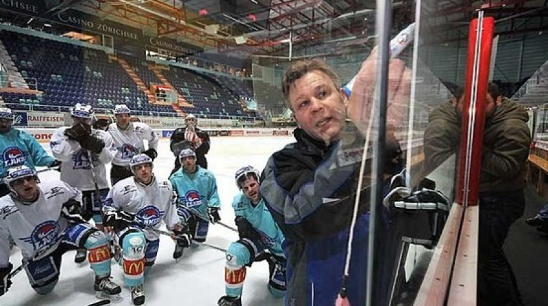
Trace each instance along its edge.
<instances>
[{"instance_id":1,"label":"face of the man in the dark jacket writing on the glass","mask_svg":"<svg viewBox=\"0 0 548 306\"><path fill-rule=\"evenodd\" d=\"M343 93L325 74L308 72L290 86L289 102L300 128L325 143L337 140L346 110Z\"/></svg>"}]
</instances>

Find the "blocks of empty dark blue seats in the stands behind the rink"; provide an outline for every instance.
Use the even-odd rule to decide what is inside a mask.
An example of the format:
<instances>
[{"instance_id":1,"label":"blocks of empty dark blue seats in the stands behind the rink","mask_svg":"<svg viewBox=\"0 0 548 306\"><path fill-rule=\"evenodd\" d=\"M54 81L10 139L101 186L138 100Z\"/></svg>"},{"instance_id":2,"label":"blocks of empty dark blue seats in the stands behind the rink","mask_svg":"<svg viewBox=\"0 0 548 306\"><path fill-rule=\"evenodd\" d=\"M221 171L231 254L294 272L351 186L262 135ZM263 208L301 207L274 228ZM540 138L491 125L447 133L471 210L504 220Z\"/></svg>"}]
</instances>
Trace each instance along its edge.
<instances>
[{"instance_id":1,"label":"blocks of empty dark blue seats in the stands behind the rink","mask_svg":"<svg viewBox=\"0 0 548 306\"><path fill-rule=\"evenodd\" d=\"M171 106L153 105L121 65L107 53L67 42L47 40L12 31L0 31L0 39L23 77L36 83L42 94L3 92L1 96L13 109L67 111L76 102L90 104L108 112L124 103L136 114L175 115ZM40 46L38 50L34 46ZM145 85L162 83L149 70L147 61L123 55ZM195 107L186 113L210 117L251 117L244 113L239 96L251 97L249 85L229 77L210 79L182 68L171 67L164 76Z\"/></svg>"}]
</instances>

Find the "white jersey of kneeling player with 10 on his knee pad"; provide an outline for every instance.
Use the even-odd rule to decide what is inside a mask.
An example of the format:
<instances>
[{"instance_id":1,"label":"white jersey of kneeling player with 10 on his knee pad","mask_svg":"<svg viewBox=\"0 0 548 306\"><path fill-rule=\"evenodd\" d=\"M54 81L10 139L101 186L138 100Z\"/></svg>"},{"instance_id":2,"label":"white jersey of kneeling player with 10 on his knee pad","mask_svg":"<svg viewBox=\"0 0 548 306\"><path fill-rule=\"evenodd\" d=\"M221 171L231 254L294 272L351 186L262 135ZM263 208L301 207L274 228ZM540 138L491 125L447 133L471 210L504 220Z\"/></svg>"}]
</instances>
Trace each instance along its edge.
<instances>
[{"instance_id":1,"label":"white jersey of kneeling player with 10 on his knee pad","mask_svg":"<svg viewBox=\"0 0 548 306\"><path fill-rule=\"evenodd\" d=\"M146 227L158 229L163 220L168 230L173 230L179 223L171 183L155 177L148 186L136 182L133 176L112 186L103 203L103 212L116 210L133 214L137 223L145 225L143 232L148 240L156 240L160 234Z\"/></svg>"}]
</instances>

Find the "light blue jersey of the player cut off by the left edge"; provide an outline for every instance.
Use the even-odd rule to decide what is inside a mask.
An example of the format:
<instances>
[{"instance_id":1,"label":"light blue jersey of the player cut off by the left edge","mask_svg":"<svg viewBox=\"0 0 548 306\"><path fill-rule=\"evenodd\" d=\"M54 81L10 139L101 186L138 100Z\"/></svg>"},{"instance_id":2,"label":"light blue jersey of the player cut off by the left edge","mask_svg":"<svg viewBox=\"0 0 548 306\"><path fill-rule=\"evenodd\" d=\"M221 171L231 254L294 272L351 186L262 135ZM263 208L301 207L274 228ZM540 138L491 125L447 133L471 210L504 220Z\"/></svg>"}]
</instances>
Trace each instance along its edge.
<instances>
[{"instance_id":1,"label":"light blue jersey of the player cut off by the left edge","mask_svg":"<svg viewBox=\"0 0 548 306\"><path fill-rule=\"evenodd\" d=\"M27 165L34 169L47 167L55 161L44 148L24 130L10 128L6 133L0 133L0 178L10 167Z\"/></svg>"}]
</instances>

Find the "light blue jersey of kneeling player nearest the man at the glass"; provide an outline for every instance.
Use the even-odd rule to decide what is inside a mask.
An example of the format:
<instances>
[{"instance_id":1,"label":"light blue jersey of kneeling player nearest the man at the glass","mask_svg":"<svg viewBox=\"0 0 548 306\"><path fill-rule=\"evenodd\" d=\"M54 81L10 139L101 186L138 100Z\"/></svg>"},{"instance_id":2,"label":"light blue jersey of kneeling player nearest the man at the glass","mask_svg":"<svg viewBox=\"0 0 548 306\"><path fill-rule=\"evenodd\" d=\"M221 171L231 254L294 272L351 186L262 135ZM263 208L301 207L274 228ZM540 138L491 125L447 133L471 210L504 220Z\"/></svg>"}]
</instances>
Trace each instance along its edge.
<instances>
[{"instance_id":1,"label":"light blue jersey of kneeling player nearest the man at the glass","mask_svg":"<svg viewBox=\"0 0 548 306\"><path fill-rule=\"evenodd\" d=\"M236 217L242 216L251 223L261 236L261 242L271 253L284 256L284 251L282 250L284 234L282 234L282 231L279 230L278 225L274 222L263 199L261 199L257 206L253 206L251 199L240 192L234 197L232 208L234 208Z\"/></svg>"}]
</instances>

